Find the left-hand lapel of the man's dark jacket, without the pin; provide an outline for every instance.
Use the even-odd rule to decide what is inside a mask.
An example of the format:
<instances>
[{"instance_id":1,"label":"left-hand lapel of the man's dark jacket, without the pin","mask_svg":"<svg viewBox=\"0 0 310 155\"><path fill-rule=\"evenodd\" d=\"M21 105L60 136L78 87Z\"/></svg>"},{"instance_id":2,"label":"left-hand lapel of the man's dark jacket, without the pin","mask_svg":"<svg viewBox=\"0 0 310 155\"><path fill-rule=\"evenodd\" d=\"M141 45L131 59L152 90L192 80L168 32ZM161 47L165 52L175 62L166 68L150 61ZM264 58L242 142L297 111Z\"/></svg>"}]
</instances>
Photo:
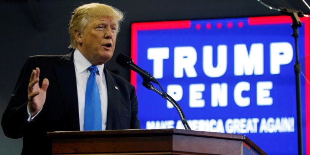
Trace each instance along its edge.
<instances>
[{"instance_id":1,"label":"left-hand lapel of the man's dark jacket, without the pin","mask_svg":"<svg viewBox=\"0 0 310 155\"><path fill-rule=\"evenodd\" d=\"M73 52L64 55L55 67L56 77L64 101L64 106L72 123L73 130L79 130L77 80L73 62Z\"/></svg>"}]
</instances>

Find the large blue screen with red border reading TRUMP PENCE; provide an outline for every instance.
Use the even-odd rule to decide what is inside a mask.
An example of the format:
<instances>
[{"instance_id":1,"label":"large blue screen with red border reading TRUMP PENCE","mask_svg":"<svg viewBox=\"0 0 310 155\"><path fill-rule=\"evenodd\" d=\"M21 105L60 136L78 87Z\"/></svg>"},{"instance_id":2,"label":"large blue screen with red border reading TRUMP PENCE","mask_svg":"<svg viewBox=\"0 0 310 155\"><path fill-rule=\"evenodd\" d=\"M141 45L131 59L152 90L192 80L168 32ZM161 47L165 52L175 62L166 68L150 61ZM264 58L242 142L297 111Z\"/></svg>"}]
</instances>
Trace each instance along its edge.
<instances>
[{"instance_id":1,"label":"large blue screen with red border reading TRUMP PENCE","mask_svg":"<svg viewBox=\"0 0 310 155\"><path fill-rule=\"evenodd\" d=\"M298 59L308 78L310 18L301 20ZM246 135L267 154L294 155L298 135L292 32L287 16L133 23L131 57L178 102L192 130ZM306 152L310 84L305 77ZM131 73L141 127L184 129L173 106L142 82Z\"/></svg>"}]
</instances>

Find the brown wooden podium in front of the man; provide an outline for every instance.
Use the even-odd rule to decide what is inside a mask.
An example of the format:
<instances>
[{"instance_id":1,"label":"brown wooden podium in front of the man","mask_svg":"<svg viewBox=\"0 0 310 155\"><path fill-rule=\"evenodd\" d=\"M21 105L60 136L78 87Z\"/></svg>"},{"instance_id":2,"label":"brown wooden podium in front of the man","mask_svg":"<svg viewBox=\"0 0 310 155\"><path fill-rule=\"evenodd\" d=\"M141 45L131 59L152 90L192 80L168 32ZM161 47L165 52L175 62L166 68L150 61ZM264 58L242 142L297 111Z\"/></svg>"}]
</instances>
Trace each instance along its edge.
<instances>
[{"instance_id":1,"label":"brown wooden podium in front of the man","mask_svg":"<svg viewBox=\"0 0 310 155\"><path fill-rule=\"evenodd\" d=\"M267 155L243 135L182 129L48 132L53 155Z\"/></svg>"}]
</instances>

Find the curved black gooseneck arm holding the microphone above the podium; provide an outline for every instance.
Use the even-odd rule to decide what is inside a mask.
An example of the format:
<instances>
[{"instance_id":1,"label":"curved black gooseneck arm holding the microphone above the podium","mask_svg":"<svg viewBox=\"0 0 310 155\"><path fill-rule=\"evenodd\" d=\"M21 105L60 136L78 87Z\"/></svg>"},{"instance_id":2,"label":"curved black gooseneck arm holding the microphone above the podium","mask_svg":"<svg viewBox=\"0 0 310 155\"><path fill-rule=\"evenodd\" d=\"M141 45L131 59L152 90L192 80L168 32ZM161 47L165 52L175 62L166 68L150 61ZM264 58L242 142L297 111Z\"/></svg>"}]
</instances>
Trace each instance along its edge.
<instances>
[{"instance_id":1,"label":"curved black gooseneck arm holding the microphone above the podium","mask_svg":"<svg viewBox=\"0 0 310 155\"><path fill-rule=\"evenodd\" d=\"M186 130L192 130L190 125L188 124L185 115L180 107L180 105L170 96L168 95L160 86L159 83L157 83L159 85L159 87L161 88L162 92L160 90L158 90L157 88L155 88L153 86L152 83L150 83L150 80L143 78L143 82L142 85L145 86L146 88L155 91L157 94L159 94L160 96L162 96L163 98L165 98L166 100L168 100L173 106L174 108L178 111L178 114L181 118L181 121L183 123L183 126Z\"/></svg>"}]
</instances>

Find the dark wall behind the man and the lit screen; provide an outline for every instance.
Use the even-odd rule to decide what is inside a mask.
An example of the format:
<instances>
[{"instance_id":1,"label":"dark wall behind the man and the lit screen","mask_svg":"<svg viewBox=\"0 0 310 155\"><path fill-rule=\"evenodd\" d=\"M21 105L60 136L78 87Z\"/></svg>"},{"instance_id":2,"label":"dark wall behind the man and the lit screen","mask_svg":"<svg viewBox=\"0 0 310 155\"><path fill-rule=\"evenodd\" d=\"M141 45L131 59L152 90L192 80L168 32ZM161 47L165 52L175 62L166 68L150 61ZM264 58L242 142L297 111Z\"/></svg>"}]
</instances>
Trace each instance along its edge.
<instances>
[{"instance_id":1,"label":"dark wall behind the man and the lit screen","mask_svg":"<svg viewBox=\"0 0 310 155\"><path fill-rule=\"evenodd\" d=\"M310 13L302 0L263 1ZM257 0L0 0L0 116L27 57L69 53L72 11L89 2L106 3L125 12L114 57L106 65L127 80L129 71L118 66L115 58L119 53L130 56L132 22L280 15ZM7 138L0 129L1 155L18 155L21 145L22 139Z\"/></svg>"}]
</instances>

